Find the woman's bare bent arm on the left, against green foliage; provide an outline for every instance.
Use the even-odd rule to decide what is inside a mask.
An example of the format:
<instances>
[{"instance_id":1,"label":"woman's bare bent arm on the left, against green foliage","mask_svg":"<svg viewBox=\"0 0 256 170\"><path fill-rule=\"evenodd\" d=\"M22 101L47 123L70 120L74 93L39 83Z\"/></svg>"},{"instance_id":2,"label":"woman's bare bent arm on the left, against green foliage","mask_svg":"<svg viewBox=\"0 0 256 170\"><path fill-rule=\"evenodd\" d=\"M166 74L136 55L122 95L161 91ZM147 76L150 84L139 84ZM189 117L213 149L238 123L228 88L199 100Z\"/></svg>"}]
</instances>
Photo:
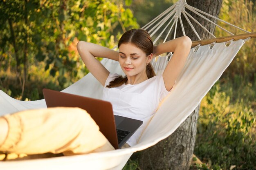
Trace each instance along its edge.
<instances>
[{"instance_id":1,"label":"woman's bare bent arm on the left, against green foliage","mask_svg":"<svg viewBox=\"0 0 256 170\"><path fill-rule=\"evenodd\" d=\"M85 66L104 86L106 79L108 78L109 71L95 57L103 57L119 61L119 53L106 47L84 41L79 41L76 48Z\"/></svg>"}]
</instances>

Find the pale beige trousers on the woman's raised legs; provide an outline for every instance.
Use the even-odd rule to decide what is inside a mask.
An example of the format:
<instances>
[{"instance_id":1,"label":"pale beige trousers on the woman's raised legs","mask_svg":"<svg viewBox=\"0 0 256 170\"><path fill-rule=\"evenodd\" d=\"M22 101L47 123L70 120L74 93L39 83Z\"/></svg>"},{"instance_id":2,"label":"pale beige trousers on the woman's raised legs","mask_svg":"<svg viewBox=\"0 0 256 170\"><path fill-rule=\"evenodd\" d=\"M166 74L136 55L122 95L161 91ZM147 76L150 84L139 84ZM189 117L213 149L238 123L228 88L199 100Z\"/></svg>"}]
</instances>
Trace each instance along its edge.
<instances>
[{"instance_id":1,"label":"pale beige trousers on the woman's raised legs","mask_svg":"<svg viewBox=\"0 0 256 170\"><path fill-rule=\"evenodd\" d=\"M80 108L43 108L4 115L9 126L0 151L64 155L114 150L90 115Z\"/></svg>"}]
</instances>

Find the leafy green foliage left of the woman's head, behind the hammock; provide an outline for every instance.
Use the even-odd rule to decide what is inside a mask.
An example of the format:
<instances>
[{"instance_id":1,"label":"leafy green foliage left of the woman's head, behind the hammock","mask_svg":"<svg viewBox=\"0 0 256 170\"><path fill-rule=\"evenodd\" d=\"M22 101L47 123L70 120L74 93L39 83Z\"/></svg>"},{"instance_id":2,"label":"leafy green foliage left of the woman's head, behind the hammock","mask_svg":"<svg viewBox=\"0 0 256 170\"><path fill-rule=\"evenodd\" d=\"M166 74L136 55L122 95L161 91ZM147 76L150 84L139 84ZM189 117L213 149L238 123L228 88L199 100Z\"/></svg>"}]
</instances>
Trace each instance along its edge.
<instances>
[{"instance_id":1,"label":"leafy green foliage left of the woman's head, behind the hammock","mask_svg":"<svg viewBox=\"0 0 256 170\"><path fill-rule=\"evenodd\" d=\"M28 98L33 88L40 95L30 99L43 97L41 89L47 85L30 86L31 76L42 77L49 70L45 82L63 89L87 74L76 51L78 40L112 48L124 31L138 28L130 9L117 0L3 0L0 10L0 88L11 89L18 99ZM31 66L41 70L34 74Z\"/></svg>"}]
</instances>

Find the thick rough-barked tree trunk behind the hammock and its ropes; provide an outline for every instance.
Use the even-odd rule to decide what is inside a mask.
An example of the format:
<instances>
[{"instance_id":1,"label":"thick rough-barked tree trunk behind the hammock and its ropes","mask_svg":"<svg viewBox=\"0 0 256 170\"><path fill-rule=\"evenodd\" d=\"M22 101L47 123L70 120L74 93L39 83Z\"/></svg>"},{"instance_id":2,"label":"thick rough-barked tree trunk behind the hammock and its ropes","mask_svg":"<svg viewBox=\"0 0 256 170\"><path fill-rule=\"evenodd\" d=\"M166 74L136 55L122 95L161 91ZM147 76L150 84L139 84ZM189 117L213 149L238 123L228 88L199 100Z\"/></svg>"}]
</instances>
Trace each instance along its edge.
<instances>
[{"instance_id":1,"label":"thick rough-barked tree trunk behind the hammock and its ropes","mask_svg":"<svg viewBox=\"0 0 256 170\"><path fill-rule=\"evenodd\" d=\"M222 0L187 0L192 7L207 12L218 17ZM186 9L186 11L188 11ZM189 11L188 11L189 12ZM189 12L198 22L206 27L211 33L214 32L215 25ZM207 17L209 18L209 17ZM211 21L216 22L210 18ZM182 22L187 36L191 40L198 40L190 25L182 15ZM203 30L193 20L191 23L202 39L209 39L211 36ZM178 24L179 25L179 24ZM177 27L176 37L183 36L181 27ZM173 37L173 36L171 36ZM188 170L191 163L195 147L196 124L198 119L200 104L191 115L181 124L172 135L160 141L155 146L141 151L139 154L139 166L141 170Z\"/></svg>"}]
</instances>

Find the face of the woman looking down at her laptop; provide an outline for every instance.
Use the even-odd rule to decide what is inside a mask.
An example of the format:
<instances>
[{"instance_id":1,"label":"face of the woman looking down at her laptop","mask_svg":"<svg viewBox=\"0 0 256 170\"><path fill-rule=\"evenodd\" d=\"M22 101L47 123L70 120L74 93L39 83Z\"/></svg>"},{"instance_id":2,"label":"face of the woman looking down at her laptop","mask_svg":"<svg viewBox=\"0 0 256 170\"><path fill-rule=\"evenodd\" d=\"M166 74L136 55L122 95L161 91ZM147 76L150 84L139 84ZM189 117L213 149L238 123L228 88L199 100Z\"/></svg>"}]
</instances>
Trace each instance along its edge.
<instances>
[{"instance_id":1,"label":"face of the woman looking down at her laptop","mask_svg":"<svg viewBox=\"0 0 256 170\"><path fill-rule=\"evenodd\" d=\"M127 76L146 72L146 66L150 57L132 43L119 46L119 64Z\"/></svg>"}]
</instances>

